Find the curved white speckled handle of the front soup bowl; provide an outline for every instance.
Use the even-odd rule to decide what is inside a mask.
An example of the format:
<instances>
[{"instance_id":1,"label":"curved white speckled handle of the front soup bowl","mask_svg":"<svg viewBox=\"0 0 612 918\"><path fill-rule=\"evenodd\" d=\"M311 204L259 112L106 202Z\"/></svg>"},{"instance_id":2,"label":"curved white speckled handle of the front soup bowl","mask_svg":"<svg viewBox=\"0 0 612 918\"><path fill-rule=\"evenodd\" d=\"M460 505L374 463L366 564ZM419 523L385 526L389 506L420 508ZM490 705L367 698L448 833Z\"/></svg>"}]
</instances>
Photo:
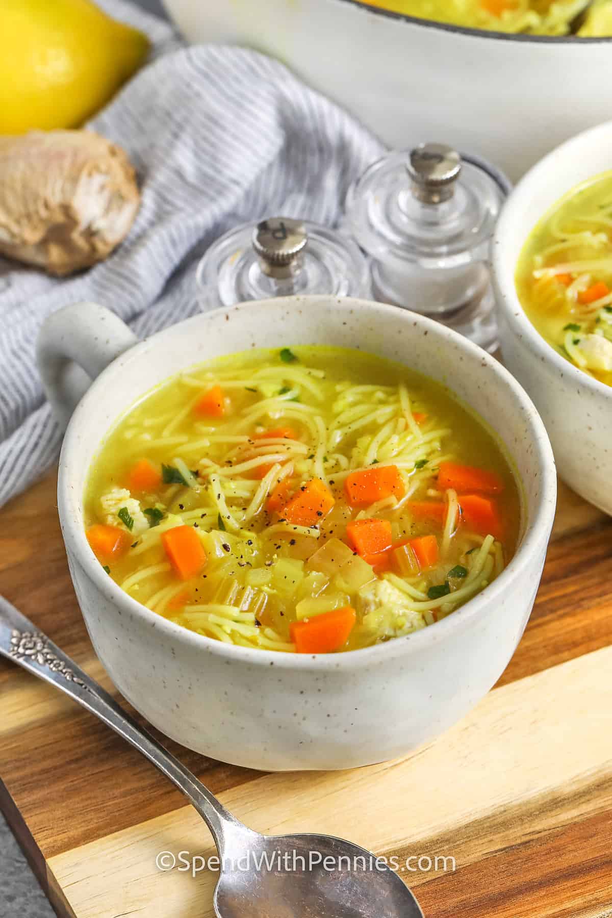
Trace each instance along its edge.
<instances>
[{"instance_id":1,"label":"curved white speckled handle of the front soup bowl","mask_svg":"<svg viewBox=\"0 0 612 918\"><path fill-rule=\"evenodd\" d=\"M97 303L73 303L43 322L37 362L62 429L95 377L137 341L124 321Z\"/></svg>"}]
</instances>

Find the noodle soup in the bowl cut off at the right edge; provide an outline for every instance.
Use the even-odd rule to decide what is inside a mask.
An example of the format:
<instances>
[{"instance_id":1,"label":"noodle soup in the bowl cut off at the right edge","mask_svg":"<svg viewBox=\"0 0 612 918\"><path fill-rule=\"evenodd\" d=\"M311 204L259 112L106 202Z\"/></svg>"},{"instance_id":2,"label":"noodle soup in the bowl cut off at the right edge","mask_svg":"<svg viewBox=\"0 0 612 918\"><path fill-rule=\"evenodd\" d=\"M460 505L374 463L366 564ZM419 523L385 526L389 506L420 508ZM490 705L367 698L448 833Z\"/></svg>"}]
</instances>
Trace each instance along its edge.
<instances>
[{"instance_id":1,"label":"noodle soup in the bowl cut off at the right edge","mask_svg":"<svg viewBox=\"0 0 612 918\"><path fill-rule=\"evenodd\" d=\"M612 385L612 172L540 220L518 261L517 293L552 347Z\"/></svg>"}]
</instances>

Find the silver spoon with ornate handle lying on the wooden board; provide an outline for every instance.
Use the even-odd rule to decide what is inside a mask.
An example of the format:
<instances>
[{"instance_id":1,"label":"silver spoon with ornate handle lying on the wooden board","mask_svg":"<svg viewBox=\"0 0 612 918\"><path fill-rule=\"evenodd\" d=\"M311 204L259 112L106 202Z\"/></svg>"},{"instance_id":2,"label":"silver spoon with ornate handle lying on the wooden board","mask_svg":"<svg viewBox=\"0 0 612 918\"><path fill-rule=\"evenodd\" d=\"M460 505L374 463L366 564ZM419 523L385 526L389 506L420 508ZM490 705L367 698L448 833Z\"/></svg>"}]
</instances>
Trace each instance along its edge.
<instances>
[{"instance_id":1,"label":"silver spoon with ornate handle lying on the wooden board","mask_svg":"<svg viewBox=\"0 0 612 918\"><path fill-rule=\"evenodd\" d=\"M331 835L261 835L239 823L177 758L2 597L0 654L71 695L147 756L193 803L215 839L222 865L214 898L217 918L423 918L403 881L391 868L377 865L365 848Z\"/></svg>"}]
</instances>

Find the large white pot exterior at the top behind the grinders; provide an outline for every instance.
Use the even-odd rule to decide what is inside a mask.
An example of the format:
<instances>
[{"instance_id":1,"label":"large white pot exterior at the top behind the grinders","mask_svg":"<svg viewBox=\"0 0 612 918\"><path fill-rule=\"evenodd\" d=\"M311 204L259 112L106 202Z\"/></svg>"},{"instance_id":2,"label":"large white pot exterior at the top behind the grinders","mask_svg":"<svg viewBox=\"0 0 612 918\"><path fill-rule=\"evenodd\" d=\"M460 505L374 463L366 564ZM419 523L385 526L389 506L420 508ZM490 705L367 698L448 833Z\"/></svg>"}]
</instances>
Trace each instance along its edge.
<instances>
[{"instance_id":1,"label":"large white pot exterior at the top behind the grinders","mask_svg":"<svg viewBox=\"0 0 612 918\"><path fill-rule=\"evenodd\" d=\"M449 143L512 179L612 110L612 39L508 36L353 0L163 2L189 41L279 58L389 146Z\"/></svg>"}]
</instances>

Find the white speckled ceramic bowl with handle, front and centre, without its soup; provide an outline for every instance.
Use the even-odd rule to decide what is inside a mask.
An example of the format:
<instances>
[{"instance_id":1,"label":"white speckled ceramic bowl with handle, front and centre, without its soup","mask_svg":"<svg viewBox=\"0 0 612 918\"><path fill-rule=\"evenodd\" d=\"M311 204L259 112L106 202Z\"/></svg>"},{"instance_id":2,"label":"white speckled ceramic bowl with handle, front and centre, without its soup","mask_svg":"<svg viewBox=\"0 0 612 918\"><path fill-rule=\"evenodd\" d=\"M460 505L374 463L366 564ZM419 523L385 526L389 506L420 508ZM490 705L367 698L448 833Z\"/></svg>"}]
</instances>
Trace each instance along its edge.
<instances>
[{"instance_id":1,"label":"white speckled ceramic bowl with handle, front and centre, without its soup","mask_svg":"<svg viewBox=\"0 0 612 918\"><path fill-rule=\"evenodd\" d=\"M217 354L322 342L402 361L450 386L495 428L524 494L520 544L504 573L438 624L338 655L221 644L130 599L106 576L83 532L87 472L111 425L151 386ZM179 743L262 769L368 765L404 755L459 720L514 653L540 583L554 516L551 445L517 382L453 331L364 300L295 297L243 304L133 344L120 320L93 304L56 313L39 341L45 385L64 414L82 383L74 382L71 358L91 375L117 358L74 409L61 452L59 507L87 629L123 695Z\"/></svg>"}]
</instances>

